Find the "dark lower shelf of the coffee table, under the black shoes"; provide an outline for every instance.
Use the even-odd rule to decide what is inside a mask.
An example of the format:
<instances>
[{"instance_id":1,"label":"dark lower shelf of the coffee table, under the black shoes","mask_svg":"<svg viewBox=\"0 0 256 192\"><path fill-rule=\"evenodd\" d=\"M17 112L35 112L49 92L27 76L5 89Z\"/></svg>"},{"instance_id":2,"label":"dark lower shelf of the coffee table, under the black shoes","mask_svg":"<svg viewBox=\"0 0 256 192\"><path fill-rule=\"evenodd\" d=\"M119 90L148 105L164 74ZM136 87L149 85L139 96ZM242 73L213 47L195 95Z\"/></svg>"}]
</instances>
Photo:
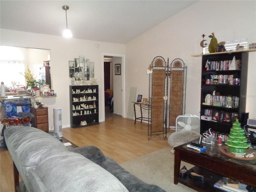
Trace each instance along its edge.
<instances>
[{"instance_id":1,"label":"dark lower shelf of the coffee table, under the black shoes","mask_svg":"<svg viewBox=\"0 0 256 192\"><path fill-rule=\"evenodd\" d=\"M204 176L204 184L199 183L196 179L191 178L190 176L187 176L186 179L178 178L178 182L199 192L223 192L223 190L214 187L214 184L223 177L222 175L199 166L194 166L192 169L194 172Z\"/></svg>"}]
</instances>

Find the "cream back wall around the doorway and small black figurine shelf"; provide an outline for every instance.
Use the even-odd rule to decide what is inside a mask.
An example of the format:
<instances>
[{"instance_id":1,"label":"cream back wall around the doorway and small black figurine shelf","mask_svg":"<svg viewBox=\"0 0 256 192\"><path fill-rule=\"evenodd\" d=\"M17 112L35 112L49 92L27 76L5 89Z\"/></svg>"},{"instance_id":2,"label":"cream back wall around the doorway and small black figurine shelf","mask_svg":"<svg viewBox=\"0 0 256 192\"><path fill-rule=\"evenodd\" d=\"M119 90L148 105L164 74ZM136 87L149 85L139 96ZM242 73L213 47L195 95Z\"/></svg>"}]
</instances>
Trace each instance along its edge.
<instances>
[{"instance_id":1,"label":"cream back wall around the doorway and small black figurine shelf","mask_svg":"<svg viewBox=\"0 0 256 192\"><path fill-rule=\"evenodd\" d=\"M49 49L51 56L52 88L57 93L56 98L44 98L48 104L49 126L53 126L53 108L62 109L62 127L70 126L69 112L69 68L68 61L82 55L94 62L94 76L99 85L100 121L104 119L104 52L125 54L125 45L106 42L95 42L74 38L63 38L44 34L27 33L1 29L1 45L27 48ZM96 48L100 44L100 48Z\"/></svg>"}]
</instances>

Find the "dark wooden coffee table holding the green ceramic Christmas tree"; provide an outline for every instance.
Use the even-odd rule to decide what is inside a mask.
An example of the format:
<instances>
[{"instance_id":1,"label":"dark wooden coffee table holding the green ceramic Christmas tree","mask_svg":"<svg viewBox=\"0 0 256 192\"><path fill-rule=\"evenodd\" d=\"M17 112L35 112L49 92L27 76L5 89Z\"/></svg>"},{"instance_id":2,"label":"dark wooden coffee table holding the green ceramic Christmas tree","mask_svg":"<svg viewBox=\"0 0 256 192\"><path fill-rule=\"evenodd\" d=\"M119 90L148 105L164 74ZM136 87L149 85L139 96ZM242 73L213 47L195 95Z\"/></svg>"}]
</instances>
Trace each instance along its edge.
<instances>
[{"instance_id":1,"label":"dark wooden coffee table holding the green ceramic Christmas tree","mask_svg":"<svg viewBox=\"0 0 256 192\"><path fill-rule=\"evenodd\" d=\"M214 188L213 185L220 180L220 178L228 177L256 187L256 160L230 158L222 154L218 146L200 153L187 148L187 144L188 143L174 148L174 184L178 184L179 182L200 192L221 192L222 190ZM223 145L223 147L225 147L225 145ZM256 150L254 150L254 152L256 152ZM181 161L195 165L192 169L196 173L204 175L205 183L200 184L189 176L187 176L185 180L180 179L179 172Z\"/></svg>"}]
</instances>

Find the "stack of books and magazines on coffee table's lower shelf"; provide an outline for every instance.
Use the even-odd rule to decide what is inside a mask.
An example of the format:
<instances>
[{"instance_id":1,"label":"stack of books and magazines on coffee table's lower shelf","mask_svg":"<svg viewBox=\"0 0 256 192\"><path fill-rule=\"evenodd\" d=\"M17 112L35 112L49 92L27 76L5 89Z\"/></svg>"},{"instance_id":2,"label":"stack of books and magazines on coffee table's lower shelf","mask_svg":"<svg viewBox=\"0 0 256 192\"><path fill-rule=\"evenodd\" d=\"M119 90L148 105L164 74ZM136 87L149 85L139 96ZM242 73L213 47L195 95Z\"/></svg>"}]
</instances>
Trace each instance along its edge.
<instances>
[{"instance_id":1,"label":"stack of books and magazines on coffee table's lower shelf","mask_svg":"<svg viewBox=\"0 0 256 192\"><path fill-rule=\"evenodd\" d=\"M248 192L247 185L241 182L232 180L227 177L222 177L214 184L214 187L226 192Z\"/></svg>"}]
</instances>

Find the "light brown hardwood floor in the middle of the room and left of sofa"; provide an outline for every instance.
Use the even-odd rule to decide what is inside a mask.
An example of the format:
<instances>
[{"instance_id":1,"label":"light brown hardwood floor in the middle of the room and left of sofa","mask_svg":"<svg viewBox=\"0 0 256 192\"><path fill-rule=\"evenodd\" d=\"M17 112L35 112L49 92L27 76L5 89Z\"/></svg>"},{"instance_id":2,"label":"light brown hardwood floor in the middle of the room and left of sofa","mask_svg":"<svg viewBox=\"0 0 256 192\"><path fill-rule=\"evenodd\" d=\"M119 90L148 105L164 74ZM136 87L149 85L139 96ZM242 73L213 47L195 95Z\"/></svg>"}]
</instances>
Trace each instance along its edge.
<instances>
[{"instance_id":1,"label":"light brown hardwood floor in the middle of the room and left of sofa","mask_svg":"<svg viewBox=\"0 0 256 192\"><path fill-rule=\"evenodd\" d=\"M170 135L173 131L168 132ZM105 122L84 128L64 128L63 137L77 146L94 145L119 164L138 156L165 148L167 139L152 136L148 140L148 124L136 122L118 115L110 116ZM13 165L9 152L1 147L0 191L13 192Z\"/></svg>"}]
</instances>

